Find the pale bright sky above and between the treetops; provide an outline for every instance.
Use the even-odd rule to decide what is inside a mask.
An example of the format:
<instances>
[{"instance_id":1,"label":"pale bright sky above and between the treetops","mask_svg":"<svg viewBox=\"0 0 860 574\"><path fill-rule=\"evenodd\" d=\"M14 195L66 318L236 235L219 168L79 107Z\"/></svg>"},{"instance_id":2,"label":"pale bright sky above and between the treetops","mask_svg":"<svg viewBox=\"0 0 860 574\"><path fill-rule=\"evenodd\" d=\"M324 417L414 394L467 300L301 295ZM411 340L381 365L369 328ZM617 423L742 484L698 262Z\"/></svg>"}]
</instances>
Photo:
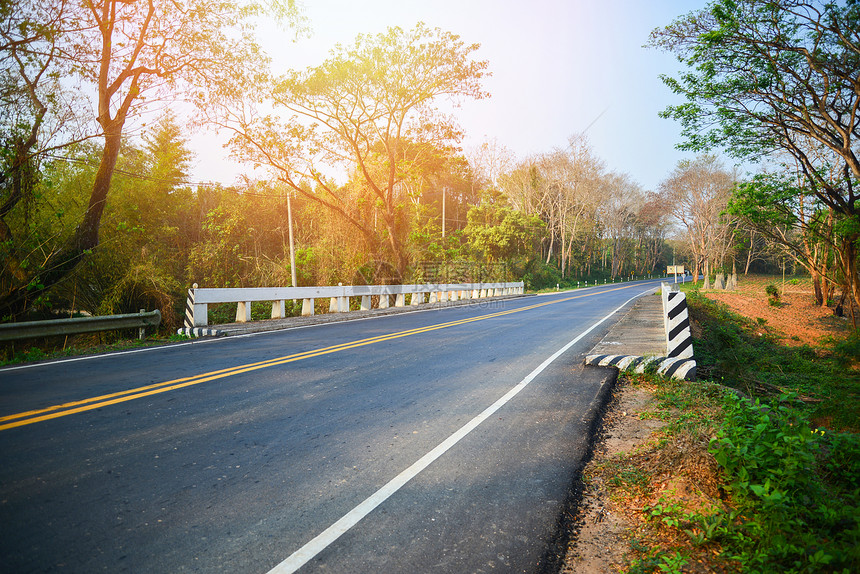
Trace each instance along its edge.
<instances>
[{"instance_id":1,"label":"pale bright sky above and between the treetops","mask_svg":"<svg viewBox=\"0 0 860 574\"><path fill-rule=\"evenodd\" d=\"M304 0L310 36L261 30L275 71L321 64L335 44L360 33L417 22L478 43L487 60L491 97L456 110L464 148L494 141L518 160L567 145L585 131L608 170L656 190L680 159L680 127L658 113L679 103L660 74L676 76L674 56L644 48L651 30L704 7L705 0ZM228 159L223 138L192 137L192 178L233 183L242 166Z\"/></svg>"}]
</instances>

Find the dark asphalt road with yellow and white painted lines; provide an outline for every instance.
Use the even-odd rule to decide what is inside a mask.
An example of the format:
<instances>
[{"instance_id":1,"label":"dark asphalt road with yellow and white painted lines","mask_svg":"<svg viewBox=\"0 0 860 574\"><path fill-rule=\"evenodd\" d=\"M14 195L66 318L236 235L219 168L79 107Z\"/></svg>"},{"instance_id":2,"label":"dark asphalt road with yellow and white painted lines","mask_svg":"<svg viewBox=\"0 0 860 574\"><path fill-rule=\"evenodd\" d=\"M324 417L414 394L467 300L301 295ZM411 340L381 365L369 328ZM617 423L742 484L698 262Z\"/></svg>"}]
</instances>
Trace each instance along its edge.
<instances>
[{"instance_id":1,"label":"dark asphalt road with yellow and white painted lines","mask_svg":"<svg viewBox=\"0 0 860 574\"><path fill-rule=\"evenodd\" d=\"M0 572L541 571L657 285L0 370Z\"/></svg>"}]
</instances>

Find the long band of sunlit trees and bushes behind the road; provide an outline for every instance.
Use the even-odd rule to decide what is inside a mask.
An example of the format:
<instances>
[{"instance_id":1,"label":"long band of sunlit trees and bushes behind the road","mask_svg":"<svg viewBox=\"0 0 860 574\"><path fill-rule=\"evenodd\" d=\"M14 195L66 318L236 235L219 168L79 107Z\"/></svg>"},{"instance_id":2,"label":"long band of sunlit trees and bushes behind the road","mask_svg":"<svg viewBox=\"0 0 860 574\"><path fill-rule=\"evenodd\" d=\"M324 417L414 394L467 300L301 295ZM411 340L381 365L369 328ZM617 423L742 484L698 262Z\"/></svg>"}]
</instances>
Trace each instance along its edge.
<instances>
[{"instance_id":1,"label":"long band of sunlit trees and bushes behind the road","mask_svg":"<svg viewBox=\"0 0 860 574\"><path fill-rule=\"evenodd\" d=\"M686 68L663 78L686 103L662 115L696 155L653 189L579 133L522 158L465 147L449 106L491 95L479 38L419 22L277 69L255 24L303 33L292 0L7 4L0 322L159 309L164 336L195 283L541 290L673 264L787 267L820 304L860 299L855 2L713 0L654 30L648 45ZM246 175L191 181L191 126L229 134Z\"/></svg>"}]
</instances>

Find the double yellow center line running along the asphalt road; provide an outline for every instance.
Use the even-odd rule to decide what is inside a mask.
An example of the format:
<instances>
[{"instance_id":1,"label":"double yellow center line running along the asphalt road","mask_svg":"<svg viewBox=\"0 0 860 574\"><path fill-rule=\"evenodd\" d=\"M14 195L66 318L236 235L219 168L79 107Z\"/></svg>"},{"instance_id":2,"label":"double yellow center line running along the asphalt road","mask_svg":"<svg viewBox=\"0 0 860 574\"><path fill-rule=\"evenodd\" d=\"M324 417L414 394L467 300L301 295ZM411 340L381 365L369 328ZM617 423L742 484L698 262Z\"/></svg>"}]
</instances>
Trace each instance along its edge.
<instances>
[{"instance_id":1,"label":"double yellow center line running along the asphalt road","mask_svg":"<svg viewBox=\"0 0 860 574\"><path fill-rule=\"evenodd\" d=\"M4 430L16 428L16 427L21 427L21 426L25 426L25 425L30 425L30 424L34 424L34 423L38 423L38 422L42 422L42 421L51 420L51 419L56 419L56 418L60 418L60 417L65 417L65 416L72 415L75 413L82 413L85 411L100 409L102 407L115 405L118 403L124 403L126 401L132 401L135 399L141 399L144 397L157 395L159 393L166 393L168 391L174 391L177 389L182 389L182 388L190 387L193 385L199 385L200 383L205 383L208 381L223 379L225 377L232 377L233 375L240 375L242 373L249 373L251 371L256 371L258 369L266 369L268 367L275 367L277 365L284 365L284 364L292 363L295 361L301 361L303 359L310 359L312 357L319 357L322 355L328 355L330 353L337 353L340 351L345 351L347 349L355 349L357 347L364 347L366 345L373 345L375 343L381 343L384 341L391 341L392 339L399 339L402 337L409 337L409 336L418 335L421 333L428 333L430 331L437 331L439 329L447 329L449 327L466 325L468 323L474 323L475 321L484 321L486 319L494 319L496 317L503 317L505 315L511 315L513 313L520 313L522 311L530 311L532 309L537 309L539 307L545 307L547 305L554 305L556 303L563 303L565 301L571 301L573 299L581 299L583 297L590 297L590 296L594 296L594 295L599 295L601 293L608 293L610 291L618 291L620 289L628 289L630 287L633 287L633 285L627 285L625 287L617 287L615 289L610 289L608 291L591 292L591 293L587 293L587 294L583 294L583 295L577 295L574 297L567 297L565 299L556 299L553 301L538 303L536 305L528 305L526 307L519 307L517 309L500 311L498 313L490 313L488 315L480 315L478 317L471 317L469 319L461 319L459 321L451 321L449 323L439 323L437 325L430 325L427 327L419 327L417 329L409 329L408 331L399 331L397 333L389 333L387 335L379 335L379 336L370 337L367 339L359 339L357 341L350 341L348 343L341 343L340 345L333 345L331 347L324 347L321 349L314 349L311 351L304 351L302 353L296 353L294 355L287 355L284 357L269 359L268 361L260 361L258 363L249 363L247 365L239 365L236 367L230 367L229 369L221 369L219 371L212 371L209 373L203 373L200 375L195 375L193 377L184 377L181 379L173 379L170 381L164 381L162 383L155 383L152 385L137 387L137 388L129 389L126 391L119 391L117 393L100 395L97 397L91 397L91 398L82 399L79 401L63 403L61 405L53 405L53 406L46 407L43 409L37 409L37 410L27 411L27 412L23 412L23 413L17 413L17 414L13 414L13 415L6 415L6 416L0 417L0 431L4 431Z\"/></svg>"}]
</instances>

